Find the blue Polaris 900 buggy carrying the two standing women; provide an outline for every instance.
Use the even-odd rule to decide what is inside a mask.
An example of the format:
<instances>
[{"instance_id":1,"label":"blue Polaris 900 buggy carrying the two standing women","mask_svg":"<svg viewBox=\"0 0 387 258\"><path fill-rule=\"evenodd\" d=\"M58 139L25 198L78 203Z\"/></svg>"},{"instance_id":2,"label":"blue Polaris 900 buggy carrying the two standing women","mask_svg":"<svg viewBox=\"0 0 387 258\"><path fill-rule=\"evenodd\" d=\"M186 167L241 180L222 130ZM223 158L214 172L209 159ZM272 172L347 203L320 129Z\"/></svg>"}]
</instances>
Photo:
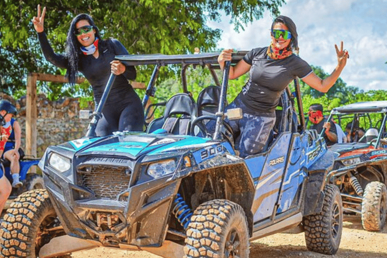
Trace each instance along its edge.
<instances>
[{"instance_id":1,"label":"blue Polaris 900 buggy carrying the two standing women","mask_svg":"<svg viewBox=\"0 0 387 258\"><path fill-rule=\"evenodd\" d=\"M245 52L234 53L231 64ZM154 65L144 104L162 66L181 66L183 93L165 104L147 132L95 137L112 75L87 135L47 148L39 167L46 189L19 196L0 229L1 253L62 257L94 246L147 250L163 257L243 257L249 240L305 231L308 249L334 254L342 233L342 202L326 184L333 153L305 129L299 86L282 93L277 122L263 153L237 155L224 120L230 63L222 84L219 53L122 55L126 64ZM186 91L187 67L210 69L217 86L197 100ZM296 104L294 104L296 103ZM298 108L298 112L296 110ZM205 123L216 121L214 133Z\"/></svg>"}]
</instances>

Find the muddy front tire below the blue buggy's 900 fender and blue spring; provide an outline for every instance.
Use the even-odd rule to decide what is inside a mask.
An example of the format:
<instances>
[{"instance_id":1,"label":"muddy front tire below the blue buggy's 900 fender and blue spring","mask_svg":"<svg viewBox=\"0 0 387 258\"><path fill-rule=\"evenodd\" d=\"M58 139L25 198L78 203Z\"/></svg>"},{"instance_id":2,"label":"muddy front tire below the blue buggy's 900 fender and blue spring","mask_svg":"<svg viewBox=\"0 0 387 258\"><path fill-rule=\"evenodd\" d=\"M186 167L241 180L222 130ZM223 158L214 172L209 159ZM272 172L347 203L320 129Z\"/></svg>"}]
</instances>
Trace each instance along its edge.
<instances>
[{"instance_id":1,"label":"muddy front tire below the blue buggy's 900 fender and blue spring","mask_svg":"<svg viewBox=\"0 0 387 258\"><path fill-rule=\"evenodd\" d=\"M213 200L201 204L193 213L186 234L186 258L248 258L246 215L233 202Z\"/></svg>"}]
</instances>

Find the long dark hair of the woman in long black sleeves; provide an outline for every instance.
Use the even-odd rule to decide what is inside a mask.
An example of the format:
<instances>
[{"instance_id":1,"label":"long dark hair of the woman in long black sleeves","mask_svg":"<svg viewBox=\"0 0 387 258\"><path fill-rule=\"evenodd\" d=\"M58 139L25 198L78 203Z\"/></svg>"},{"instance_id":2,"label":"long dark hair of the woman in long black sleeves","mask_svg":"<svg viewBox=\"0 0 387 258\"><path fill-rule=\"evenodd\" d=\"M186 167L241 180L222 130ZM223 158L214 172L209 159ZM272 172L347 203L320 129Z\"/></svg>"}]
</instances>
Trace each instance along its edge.
<instances>
[{"instance_id":1,"label":"long dark hair of the woman in long black sleeves","mask_svg":"<svg viewBox=\"0 0 387 258\"><path fill-rule=\"evenodd\" d=\"M71 21L69 31L67 32L66 39L66 56L69 60L66 76L69 79L71 85L74 85L77 80L79 55L82 54L80 49L81 43L79 43L77 36L75 35L75 29L77 22L86 20L95 29L95 36L101 40L98 27L95 25L93 18L88 14L79 14Z\"/></svg>"}]
</instances>

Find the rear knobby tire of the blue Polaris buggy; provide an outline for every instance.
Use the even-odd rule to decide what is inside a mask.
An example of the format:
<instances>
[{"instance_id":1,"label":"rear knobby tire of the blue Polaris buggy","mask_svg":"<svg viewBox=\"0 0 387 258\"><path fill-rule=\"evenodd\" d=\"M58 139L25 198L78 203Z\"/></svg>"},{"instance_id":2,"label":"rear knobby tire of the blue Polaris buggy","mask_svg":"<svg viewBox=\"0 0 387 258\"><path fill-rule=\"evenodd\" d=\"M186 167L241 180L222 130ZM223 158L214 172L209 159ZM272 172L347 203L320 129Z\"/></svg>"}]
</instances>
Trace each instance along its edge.
<instances>
[{"instance_id":1,"label":"rear knobby tire of the blue Polaris buggy","mask_svg":"<svg viewBox=\"0 0 387 258\"><path fill-rule=\"evenodd\" d=\"M303 218L306 247L310 251L335 254L343 230L343 205L336 185L327 184L324 193L321 212Z\"/></svg>"}]
</instances>

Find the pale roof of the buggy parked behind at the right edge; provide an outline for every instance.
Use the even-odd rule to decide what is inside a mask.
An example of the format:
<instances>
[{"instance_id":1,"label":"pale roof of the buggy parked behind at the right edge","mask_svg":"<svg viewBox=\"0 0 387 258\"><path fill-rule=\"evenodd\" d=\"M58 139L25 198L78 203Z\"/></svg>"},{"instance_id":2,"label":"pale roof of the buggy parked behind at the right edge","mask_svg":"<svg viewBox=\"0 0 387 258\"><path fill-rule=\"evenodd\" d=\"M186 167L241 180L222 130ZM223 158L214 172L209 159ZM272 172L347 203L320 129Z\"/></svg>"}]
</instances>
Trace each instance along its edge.
<instances>
[{"instance_id":1,"label":"pale roof of the buggy parked behind at the right edge","mask_svg":"<svg viewBox=\"0 0 387 258\"><path fill-rule=\"evenodd\" d=\"M335 107L332 114L387 112L387 101L366 101Z\"/></svg>"}]
</instances>

